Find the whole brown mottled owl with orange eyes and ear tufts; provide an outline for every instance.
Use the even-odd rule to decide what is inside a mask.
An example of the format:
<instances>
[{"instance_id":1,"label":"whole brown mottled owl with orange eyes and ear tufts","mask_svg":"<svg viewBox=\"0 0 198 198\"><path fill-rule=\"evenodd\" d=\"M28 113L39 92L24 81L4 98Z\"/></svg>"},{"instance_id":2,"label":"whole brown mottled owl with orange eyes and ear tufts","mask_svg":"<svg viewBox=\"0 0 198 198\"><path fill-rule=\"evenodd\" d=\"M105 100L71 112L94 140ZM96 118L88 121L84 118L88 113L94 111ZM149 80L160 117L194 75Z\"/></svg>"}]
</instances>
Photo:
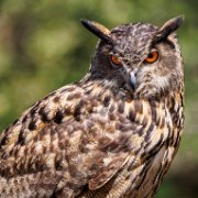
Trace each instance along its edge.
<instances>
[{"instance_id":1,"label":"whole brown mottled owl with orange eyes and ear tufts","mask_svg":"<svg viewBox=\"0 0 198 198\"><path fill-rule=\"evenodd\" d=\"M184 127L182 22L81 20L100 38L91 66L2 132L0 196L154 197Z\"/></svg>"}]
</instances>

